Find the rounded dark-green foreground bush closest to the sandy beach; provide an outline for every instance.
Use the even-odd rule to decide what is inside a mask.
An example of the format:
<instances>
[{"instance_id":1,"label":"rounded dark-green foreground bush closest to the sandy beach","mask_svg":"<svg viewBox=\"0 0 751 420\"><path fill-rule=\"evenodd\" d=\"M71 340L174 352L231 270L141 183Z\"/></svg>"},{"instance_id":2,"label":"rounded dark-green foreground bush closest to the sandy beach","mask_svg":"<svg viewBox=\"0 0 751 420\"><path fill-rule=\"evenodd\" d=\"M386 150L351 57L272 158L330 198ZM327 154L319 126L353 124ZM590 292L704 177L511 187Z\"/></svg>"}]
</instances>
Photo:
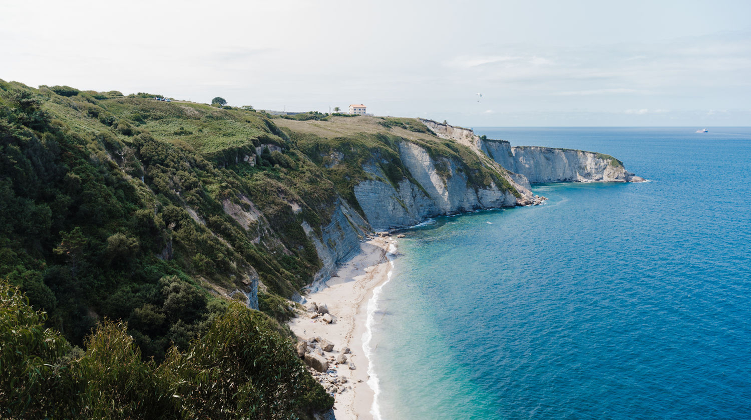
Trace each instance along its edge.
<instances>
[{"instance_id":1,"label":"rounded dark-green foreground bush closest to the sandy beach","mask_svg":"<svg viewBox=\"0 0 751 420\"><path fill-rule=\"evenodd\" d=\"M314 401L321 409L333 404L306 379L291 343L237 302L189 351L170 350L157 376L189 419L288 419Z\"/></svg>"}]
</instances>

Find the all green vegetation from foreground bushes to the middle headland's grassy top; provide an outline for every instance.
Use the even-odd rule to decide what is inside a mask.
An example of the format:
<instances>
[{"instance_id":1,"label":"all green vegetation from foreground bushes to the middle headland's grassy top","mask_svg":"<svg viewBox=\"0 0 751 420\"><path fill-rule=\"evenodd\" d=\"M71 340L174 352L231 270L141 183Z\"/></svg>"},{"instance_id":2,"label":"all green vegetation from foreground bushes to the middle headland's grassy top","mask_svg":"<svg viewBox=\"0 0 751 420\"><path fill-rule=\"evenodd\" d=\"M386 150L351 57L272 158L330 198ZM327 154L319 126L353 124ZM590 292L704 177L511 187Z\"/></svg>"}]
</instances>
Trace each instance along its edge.
<instances>
[{"instance_id":1,"label":"all green vegetation from foreground bushes to the middle headland's grassy top","mask_svg":"<svg viewBox=\"0 0 751 420\"><path fill-rule=\"evenodd\" d=\"M504 184L416 119L282 118L154 96L0 80L0 334L28 332L17 343L26 356L0 349L0 416L73 418L100 407L82 415L99 416L116 401L130 411L104 417L149 418L134 387L155 407L173 407L165 418L304 417L328 407L285 338L286 299L321 269L303 222L320 237L339 199L362 214L353 188L374 176L365 163L391 184L410 178L397 147L406 140L460 161L468 184ZM244 308L256 283L261 313ZM243 342L254 334L273 345ZM211 344L225 335L237 344ZM140 377L102 379L101 356L117 352ZM271 358L281 370L236 364L228 369L239 377L212 376L216 358ZM185 371L181 360L203 365ZM202 389L207 377L240 391ZM50 399L61 386L89 399ZM264 394L274 386L279 395ZM269 399L279 407L253 405Z\"/></svg>"}]
</instances>

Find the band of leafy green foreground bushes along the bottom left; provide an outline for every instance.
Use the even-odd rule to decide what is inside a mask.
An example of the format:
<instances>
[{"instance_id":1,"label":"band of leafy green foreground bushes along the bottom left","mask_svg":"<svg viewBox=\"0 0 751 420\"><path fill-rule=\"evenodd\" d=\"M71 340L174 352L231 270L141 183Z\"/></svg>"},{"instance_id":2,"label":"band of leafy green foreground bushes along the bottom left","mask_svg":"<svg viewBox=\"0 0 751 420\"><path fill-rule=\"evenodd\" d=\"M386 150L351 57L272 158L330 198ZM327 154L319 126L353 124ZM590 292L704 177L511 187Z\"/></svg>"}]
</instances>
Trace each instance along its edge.
<instances>
[{"instance_id":1,"label":"band of leafy green foreground bushes along the bottom left","mask_svg":"<svg viewBox=\"0 0 751 420\"><path fill-rule=\"evenodd\" d=\"M84 351L45 320L0 280L3 418L289 419L333 404L273 323L237 302L161 365L125 323L98 323Z\"/></svg>"}]
</instances>

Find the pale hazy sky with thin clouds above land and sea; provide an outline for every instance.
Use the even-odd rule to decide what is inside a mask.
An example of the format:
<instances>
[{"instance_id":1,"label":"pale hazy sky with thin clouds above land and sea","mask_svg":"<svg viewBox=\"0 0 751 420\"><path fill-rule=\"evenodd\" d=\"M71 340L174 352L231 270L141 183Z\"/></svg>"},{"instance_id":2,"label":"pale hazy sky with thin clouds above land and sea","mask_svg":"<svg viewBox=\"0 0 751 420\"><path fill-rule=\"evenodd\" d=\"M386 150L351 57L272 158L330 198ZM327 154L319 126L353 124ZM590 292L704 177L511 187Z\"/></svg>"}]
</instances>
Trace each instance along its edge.
<instances>
[{"instance_id":1,"label":"pale hazy sky with thin clouds above land and sea","mask_svg":"<svg viewBox=\"0 0 751 420\"><path fill-rule=\"evenodd\" d=\"M466 127L747 126L751 1L0 0L0 79Z\"/></svg>"}]
</instances>

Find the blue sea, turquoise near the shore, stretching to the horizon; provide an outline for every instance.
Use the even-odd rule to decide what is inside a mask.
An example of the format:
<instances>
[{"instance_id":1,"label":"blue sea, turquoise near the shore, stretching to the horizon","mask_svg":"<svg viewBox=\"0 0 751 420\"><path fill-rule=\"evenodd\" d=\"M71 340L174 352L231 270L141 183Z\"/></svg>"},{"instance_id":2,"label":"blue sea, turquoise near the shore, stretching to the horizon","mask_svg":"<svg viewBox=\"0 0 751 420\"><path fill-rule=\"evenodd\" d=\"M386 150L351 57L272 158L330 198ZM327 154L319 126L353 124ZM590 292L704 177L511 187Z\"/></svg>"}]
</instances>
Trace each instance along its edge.
<instances>
[{"instance_id":1,"label":"blue sea, turquoise near the shore, stretching to the horizon","mask_svg":"<svg viewBox=\"0 0 751 420\"><path fill-rule=\"evenodd\" d=\"M751 419L751 128L476 129L641 184L406 232L379 297L382 419Z\"/></svg>"}]
</instances>

